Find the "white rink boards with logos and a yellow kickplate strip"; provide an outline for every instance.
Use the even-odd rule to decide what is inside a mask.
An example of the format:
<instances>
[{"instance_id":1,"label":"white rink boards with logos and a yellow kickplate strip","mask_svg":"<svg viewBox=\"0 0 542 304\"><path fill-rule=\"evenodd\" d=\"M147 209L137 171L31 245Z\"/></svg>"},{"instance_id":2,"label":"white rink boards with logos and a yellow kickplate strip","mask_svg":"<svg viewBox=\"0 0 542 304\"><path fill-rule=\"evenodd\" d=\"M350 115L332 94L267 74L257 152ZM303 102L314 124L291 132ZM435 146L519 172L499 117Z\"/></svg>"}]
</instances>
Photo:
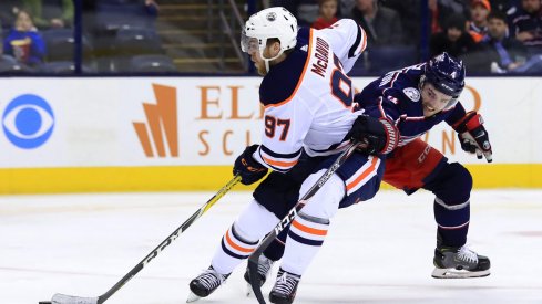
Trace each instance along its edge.
<instances>
[{"instance_id":1,"label":"white rink boards with logos and a yellow kickplate strip","mask_svg":"<svg viewBox=\"0 0 542 304\"><path fill-rule=\"evenodd\" d=\"M371 78L354 78L357 90ZM258 77L2 78L0 193L215 190L260 141ZM477 188L541 188L542 78L469 78L492 164L446 124L423 136ZM248 189L238 187L237 189Z\"/></svg>"}]
</instances>

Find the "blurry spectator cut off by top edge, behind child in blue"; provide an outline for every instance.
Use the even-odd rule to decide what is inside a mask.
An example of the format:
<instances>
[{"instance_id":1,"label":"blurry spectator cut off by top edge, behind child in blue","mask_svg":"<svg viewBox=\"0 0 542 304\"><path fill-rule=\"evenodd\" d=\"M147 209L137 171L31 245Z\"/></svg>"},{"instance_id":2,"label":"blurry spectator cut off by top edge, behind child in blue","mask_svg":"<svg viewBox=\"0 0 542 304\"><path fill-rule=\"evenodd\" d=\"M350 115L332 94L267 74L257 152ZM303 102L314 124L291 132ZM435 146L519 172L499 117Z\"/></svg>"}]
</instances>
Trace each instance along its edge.
<instances>
[{"instance_id":1,"label":"blurry spectator cut off by top edge, behind child in blue","mask_svg":"<svg viewBox=\"0 0 542 304\"><path fill-rule=\"evenodd\" d=\"M72 0L22 0L22 3L40 29L65 28L73 24Z\"/></svg>"}]
</instances>

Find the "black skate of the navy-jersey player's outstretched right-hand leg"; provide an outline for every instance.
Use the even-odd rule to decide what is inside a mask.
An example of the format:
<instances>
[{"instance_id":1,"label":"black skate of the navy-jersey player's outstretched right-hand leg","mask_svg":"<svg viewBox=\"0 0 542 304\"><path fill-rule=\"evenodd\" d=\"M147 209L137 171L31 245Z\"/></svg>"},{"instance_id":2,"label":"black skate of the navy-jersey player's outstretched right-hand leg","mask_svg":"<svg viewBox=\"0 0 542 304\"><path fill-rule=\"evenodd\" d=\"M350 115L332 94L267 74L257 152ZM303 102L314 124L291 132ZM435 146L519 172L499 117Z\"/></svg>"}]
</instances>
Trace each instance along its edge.
<instances>
[{"instance_id":1,"label":"black skate of the navy-jersey player's outstretched right-hand leg","mask_svg":"<svg viewBox=\"0 0 542 304\"><path fill-rule=\"evenodd\" d=\"M490 274L490 261L487 256L478 255L467 247L452 248L440 245L434 249L434 270L432 277L466 279L481 277Z\"/></svg>"}]
</instances>

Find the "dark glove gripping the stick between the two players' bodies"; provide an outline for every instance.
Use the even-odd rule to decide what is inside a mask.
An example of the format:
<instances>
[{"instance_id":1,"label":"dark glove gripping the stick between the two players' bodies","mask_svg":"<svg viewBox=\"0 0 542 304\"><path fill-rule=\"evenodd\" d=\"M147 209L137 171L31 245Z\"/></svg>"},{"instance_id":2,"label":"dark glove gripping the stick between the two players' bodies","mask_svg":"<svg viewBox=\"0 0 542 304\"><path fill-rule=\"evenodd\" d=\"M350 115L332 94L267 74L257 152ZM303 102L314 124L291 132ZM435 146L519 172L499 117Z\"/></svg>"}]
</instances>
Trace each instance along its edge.
<instances>
[{"instance_id":1,"label":"dark glove gripping the stick between the two players' bodies","mask_svg":"<svg viewBox=\"0 0 542 304\"><path fill-rule=\"evenodd\" d=\"M360 150L369 155L388 154L399 143L399 130L385 118L359 115L349 133L350 138L361 143Z\"/></svg>"}]
</instances>

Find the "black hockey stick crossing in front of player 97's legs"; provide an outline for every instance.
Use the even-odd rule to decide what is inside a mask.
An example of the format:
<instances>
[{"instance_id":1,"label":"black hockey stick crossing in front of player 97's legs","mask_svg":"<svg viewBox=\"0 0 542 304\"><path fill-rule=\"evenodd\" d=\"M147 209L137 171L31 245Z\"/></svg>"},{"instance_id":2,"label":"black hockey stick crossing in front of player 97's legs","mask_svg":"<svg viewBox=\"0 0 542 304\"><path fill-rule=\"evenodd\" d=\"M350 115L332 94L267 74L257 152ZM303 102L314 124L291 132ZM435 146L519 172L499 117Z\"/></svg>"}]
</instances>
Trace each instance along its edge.
<instances>
[{"instance_id":1,"label":"black hockey stick crossing in front of player 97's legs","mask_svg":"<svg viewBox=\"0 0 542 304\"><path fill-rule=\"evenodd\" d=\"M262 294L262 286L259 283L258 275L258 260L259 255L264 252L264 250L275 240L275 238L293 220L297 217L299 210L305 207L307 200L309 200L318 190L321 189L324 184L345 164L345 161L350 157L350 155L358 147L359 141L352 141L348 148L337 158L337 160L331 164L329 169L324 172L324 175L310 187L310 189L303 196L303 198L297 201L297 203L288 211L288 214L283 218L283 220L275 226L274 230L267 234L256 250L248 256L248 273L250 275L250 285L254 291L254 295L258 300L259 304L266 304L264 300L264 295Z\"/></svg>"}]
</instances>

